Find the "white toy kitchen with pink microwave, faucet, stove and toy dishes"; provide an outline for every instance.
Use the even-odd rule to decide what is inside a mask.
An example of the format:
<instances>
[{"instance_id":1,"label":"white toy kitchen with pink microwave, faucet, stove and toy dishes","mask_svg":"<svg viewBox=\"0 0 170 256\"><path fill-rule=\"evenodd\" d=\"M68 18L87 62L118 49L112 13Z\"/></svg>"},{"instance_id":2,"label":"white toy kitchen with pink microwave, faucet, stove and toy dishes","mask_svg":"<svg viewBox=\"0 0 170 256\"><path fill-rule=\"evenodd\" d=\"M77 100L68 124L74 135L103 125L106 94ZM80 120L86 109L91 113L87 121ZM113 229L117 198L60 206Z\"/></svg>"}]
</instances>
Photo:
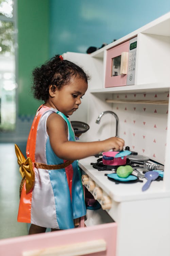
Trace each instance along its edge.
<instances>
[{"instance_id":1,"label":"white toy kitchen with pink microwave, faucet, stove and toy dishes","mask_svg":"<svg viewBox=\"0 0 170 256\"><path fill-rule=\"evenodd\" d=\"M96 52L63 57L91 76L79 111L70 116L90 127L80 141L118 136L130 154L120 163L113 152L79 160L91 195L86 227L61 231L58 241L64 236L85 248L92 240L86 255L169 256L170 13Z\"/></svg>"}]
</instances>

